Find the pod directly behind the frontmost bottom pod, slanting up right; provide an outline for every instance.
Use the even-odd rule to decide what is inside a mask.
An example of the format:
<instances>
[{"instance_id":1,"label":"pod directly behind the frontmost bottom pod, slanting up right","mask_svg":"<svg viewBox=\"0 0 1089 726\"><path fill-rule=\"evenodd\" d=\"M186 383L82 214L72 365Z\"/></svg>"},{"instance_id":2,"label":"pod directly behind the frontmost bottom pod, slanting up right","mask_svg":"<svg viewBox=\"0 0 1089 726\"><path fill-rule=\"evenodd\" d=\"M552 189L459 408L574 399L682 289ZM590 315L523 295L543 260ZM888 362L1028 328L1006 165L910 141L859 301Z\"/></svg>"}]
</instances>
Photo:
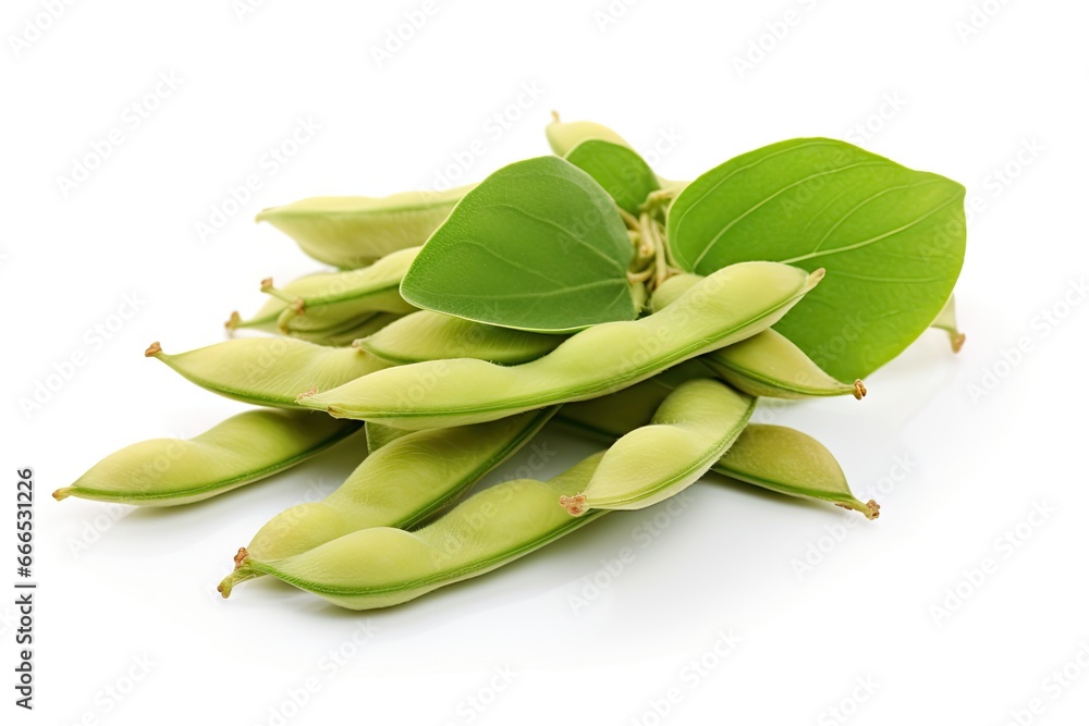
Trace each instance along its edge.
<instances>
[{"instance_id":1,"label":"pod directly behind the frontmost bottom pod, slanting up right","mask_svg":"<svg viewBox=\"0 0 1089 726\"><path fill-rule=\"evenodd\" d=\"M414 527L510 458L555 411L553 406L499 421L402 436L364 459L323 501L297 504L269 520L240 550L235 563L246 557L274 563L370 527ZM220 591L258 575L240 565Z\"/></svg>"}]
</instances>

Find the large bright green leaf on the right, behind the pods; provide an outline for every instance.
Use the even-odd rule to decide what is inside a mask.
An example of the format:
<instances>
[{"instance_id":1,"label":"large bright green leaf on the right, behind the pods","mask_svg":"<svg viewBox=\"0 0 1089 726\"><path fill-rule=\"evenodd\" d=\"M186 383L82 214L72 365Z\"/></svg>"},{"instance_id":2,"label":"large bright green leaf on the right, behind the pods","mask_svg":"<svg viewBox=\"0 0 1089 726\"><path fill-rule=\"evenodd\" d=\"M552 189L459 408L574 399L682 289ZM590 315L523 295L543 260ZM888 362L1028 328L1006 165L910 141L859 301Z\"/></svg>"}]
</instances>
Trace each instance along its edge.
<instances>
[{"instance_id":1,"label":"large bright green leaf on the right, behind the pods","mask_svg":"<svg viewBox=\"0 0 1089 726\"><path fill-rule=\"evenodd\" d=\"M934 320L964 261L964 187L827 138L772 144L693 182L669 212L685 270L774 260L824 281L775 329L840 380L864 378Z\"/></svg>"}]
</instances>

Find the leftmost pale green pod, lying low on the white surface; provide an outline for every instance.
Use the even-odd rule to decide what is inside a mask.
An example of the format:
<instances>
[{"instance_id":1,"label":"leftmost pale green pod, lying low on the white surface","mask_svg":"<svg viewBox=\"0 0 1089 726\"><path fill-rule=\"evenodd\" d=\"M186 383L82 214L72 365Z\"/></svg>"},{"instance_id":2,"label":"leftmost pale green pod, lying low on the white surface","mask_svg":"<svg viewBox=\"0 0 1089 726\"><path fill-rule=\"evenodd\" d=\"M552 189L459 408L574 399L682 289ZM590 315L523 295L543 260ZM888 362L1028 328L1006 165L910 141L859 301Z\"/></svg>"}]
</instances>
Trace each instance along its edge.
<instances>
[{"instance_id":1,"label":"leftmost pale green pod, lying low on the white surface","mask_svg":"<svg viewBox=\"0 0 1089 726\"><path fill-rule=\"evenodd\" d=\"M139 506L199 502L305 462L358 429L310 411L246 411L193 439L125 446L53 497Z\"/></svg>"}]
</instances>

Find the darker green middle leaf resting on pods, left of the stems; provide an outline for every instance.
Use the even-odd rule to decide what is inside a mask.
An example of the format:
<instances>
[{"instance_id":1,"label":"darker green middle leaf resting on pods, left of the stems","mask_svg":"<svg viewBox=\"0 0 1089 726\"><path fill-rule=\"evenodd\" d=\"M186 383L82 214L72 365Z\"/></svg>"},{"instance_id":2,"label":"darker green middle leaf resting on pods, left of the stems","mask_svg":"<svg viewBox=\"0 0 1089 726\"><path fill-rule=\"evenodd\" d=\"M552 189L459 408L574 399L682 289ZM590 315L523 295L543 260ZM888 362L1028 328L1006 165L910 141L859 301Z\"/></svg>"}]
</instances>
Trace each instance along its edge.
<instances>
[{"instance_id":1,"label":"darker green middle leaf resting on pods, left of the stems","mask_svg":"<svg viewBox=\"0 0 1089 726\"><path fill-rule=\"evenodd\" d=\"M632 243L612 199L558 157L500 169L462 199L401 283L416 307L566 333L638 311Z\"/></svg>"}]
</instances>

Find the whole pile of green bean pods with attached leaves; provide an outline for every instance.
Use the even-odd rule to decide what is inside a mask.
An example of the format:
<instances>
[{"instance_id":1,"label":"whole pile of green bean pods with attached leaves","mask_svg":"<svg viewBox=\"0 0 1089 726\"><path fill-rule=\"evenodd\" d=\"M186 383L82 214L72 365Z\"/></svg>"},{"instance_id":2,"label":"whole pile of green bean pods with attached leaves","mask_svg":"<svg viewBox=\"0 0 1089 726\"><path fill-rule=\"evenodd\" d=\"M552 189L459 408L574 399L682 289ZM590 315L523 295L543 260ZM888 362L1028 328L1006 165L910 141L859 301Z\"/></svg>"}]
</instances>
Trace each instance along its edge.
<instances>
[{"instance_id":1,"label":"whole pile of green bean pods with attached leaves","mask_svg":"<svg viewBox=\"0 0 1089 726\"><path fill-rule=\"evenodd\" d=\"M262 211L335 269L265 280L267 303L232 313L227 341L146 352L259 408L194 439L133 444L54 496L192 504L365 436L352 475L272 517L219 585L225 598L271 576L353 610L477 577L708 472L877 518L816 439L750 419L761 396L861 399L859 379L928 327L959 348L963 231L942 218L920 232L946 211L963 219L947 200L959 185L829 139L672 182L604 126L555 118L547 132L553 156L477 185ZM792 207L795 192L807 196ZM759 231L745 226L754 216ZM919 286L940 282L922 294L867 274L878 255ZM811 291L823 296L807 308ZM839 332L828 321L859 309L873 315L820 354L813 341ZM546 426L602 451L548 481L468 495Z\"/></svg>"}]
</instances>

